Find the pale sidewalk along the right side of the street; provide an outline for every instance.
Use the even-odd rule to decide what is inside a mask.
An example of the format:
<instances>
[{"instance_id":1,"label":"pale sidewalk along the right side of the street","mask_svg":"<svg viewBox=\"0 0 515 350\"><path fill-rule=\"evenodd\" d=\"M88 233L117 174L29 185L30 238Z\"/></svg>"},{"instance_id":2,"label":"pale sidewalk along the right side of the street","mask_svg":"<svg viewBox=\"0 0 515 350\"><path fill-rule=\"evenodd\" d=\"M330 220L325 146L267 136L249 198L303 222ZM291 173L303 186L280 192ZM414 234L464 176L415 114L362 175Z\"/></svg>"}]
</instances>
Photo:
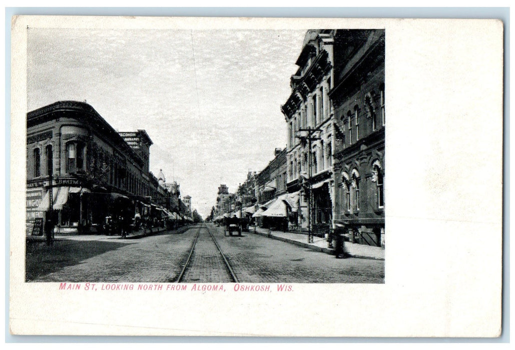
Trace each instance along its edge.
<instances>
[{"instance_id":1,"label":"pale sidewalk along the right side of the street","mask_svg":"<svg viewBox=\"0 0 515 350\"><path fill-rule=\"evenodd\" d=\"M254 226L249 227L249 232L254 233ZM256 228L255 234L268 237L268 229ZM313 237L313 243L307 242L307 235L301 233L270 231L270 238L296 244L304 248L309 248L317 252L335 254L334 249L328 248L328 241L325 238ZM385 259L385 250L381 247L365 246L363 244L345 242L345 252L349 256L362 259Z\"/></svg>"}]
</instances>

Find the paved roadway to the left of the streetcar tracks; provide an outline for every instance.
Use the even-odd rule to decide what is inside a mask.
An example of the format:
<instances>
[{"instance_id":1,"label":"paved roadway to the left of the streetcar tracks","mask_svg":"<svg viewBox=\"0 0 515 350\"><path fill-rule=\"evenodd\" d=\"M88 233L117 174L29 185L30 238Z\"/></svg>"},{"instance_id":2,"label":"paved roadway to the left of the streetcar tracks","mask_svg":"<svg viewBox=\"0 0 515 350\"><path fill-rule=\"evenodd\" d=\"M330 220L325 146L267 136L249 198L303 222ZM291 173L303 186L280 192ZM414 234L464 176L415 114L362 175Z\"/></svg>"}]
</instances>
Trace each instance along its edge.
<instances>
[{"instance_id":1,"label":"paved roadway to the left of the streetcar tracks","mask_svg":"<svg viewBox=\"0 0 515 350\"><path fill-rule=\"evenodd\" d=\"M180 230L177 232L181 232ZM59 240L27 249L26 281L170 282L190 253L196 226L141 239Z\"/></svg>"}]
</instances>

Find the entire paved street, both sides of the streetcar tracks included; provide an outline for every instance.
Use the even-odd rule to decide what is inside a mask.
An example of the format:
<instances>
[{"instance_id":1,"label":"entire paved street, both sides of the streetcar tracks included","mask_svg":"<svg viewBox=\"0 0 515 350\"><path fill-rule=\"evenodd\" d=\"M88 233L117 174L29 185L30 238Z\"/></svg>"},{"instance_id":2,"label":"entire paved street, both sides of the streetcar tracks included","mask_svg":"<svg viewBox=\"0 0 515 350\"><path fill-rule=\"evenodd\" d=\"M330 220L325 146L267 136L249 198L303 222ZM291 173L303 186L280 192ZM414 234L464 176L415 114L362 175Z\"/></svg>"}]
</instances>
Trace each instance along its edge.
<instances>
[{"instance_id":1,"label":"entire paved street, both sides of the streetcar tracks included","mask_svg":"<svg viewBox=\"0 0 515 350\"><path fill-rule=\"evenodd\" d=\"M225 236L223 228L208 225L239 282L384 283L384 260L336 259L250 232L243 232L241 237ZM175 282L199 227L192 225L180 234L168 232L134 240L80 237L56 241L50 248L35 243L27 248L26 281ZM211 249L196 254L194 258L203 259L203 266L217 264L210 261L214 256ZM209 277L205 271L198 270L199 282L226 282L213 272Z\"/></svg>"}]
</instances>

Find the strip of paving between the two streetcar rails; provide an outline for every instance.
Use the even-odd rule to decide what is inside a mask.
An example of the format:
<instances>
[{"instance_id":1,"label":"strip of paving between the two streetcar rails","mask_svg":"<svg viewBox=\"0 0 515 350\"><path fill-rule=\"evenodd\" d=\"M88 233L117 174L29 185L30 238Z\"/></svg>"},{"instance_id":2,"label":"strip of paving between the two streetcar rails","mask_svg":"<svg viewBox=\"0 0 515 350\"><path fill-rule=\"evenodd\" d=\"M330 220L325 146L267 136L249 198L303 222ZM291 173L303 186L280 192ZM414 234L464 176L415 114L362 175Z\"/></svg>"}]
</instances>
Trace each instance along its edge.
<instances>
[{"instance_id":1,"label":"strip of paving between the two streetcar rails","mask_svg":"<svg viewBox=\"0 0 515 350\"><path fill-rule=\"evenodd\" d=\"M208 233L201 228L190 263L181 282L184 283L230 283L233 282L216 244Z\"/></svg>"}]
</instances>

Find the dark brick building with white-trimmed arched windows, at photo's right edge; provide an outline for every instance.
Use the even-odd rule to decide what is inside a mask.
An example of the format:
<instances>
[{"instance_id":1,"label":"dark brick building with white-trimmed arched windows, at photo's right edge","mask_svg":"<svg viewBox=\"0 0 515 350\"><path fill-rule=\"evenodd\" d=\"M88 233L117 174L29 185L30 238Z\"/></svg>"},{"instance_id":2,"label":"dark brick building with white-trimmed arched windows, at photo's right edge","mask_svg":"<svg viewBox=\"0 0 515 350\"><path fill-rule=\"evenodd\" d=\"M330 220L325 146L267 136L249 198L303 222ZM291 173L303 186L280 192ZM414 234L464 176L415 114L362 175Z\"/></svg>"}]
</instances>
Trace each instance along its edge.
<instances>
[{"instance_id":1,"label":"dark brick building with white-trimmed arched windows, at photo's right edge","mask_svg":"<svg viewBox=\"0 0 515 350\"><path fill-rule=\"evenodd\" d=\"M334 32L334 222L385 246L385 31Z\"/></svg>"}]
</instances>

